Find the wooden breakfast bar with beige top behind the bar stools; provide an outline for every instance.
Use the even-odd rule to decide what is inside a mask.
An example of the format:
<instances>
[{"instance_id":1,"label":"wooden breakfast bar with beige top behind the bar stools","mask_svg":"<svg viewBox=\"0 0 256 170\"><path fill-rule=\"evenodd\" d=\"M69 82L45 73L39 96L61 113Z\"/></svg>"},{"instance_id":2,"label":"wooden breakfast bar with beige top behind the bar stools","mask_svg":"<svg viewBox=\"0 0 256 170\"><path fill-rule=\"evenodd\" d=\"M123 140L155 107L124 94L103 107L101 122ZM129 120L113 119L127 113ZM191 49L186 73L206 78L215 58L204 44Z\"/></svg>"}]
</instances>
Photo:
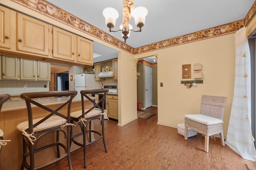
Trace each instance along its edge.
<instances>
[{"instance_id":1,"label":"wooden breakfast bar with beige top behind the bar stools","mask_svg":"<svg viewBox=\"0 0 256 170\"><path fill-rule=\"evenodd\" d=\"M58 108L61 104L66 102L69 97L61 98L46 98L46 99L37 99L40 104L49 106L51 109ZM93 97L92 97L93 98ZM85 100L85 107L92 107L92 103L88 100ZM71 112L81 110L81 100L73 99L71 105ZM33 119L45 117L49 112L45 111L42 108L37 106L32 106L32 111L36 114L33 115ZM67 111L67 106L65 106L62 111L65 113ZM61 111L60 111L61 112ZM19 170L22 162L22 134L17 129L18 123L28 120L27 108L25 101L14 101L14 102L5 102L2 106L0 113L0 129L4 131L4 139L11 140L7 145L2 147L0 153L0 170ZM75 123L76 124L76 123ZM74 135L80 132L80 127L73 127ZM48 134L45 137L44 143L52 143L55 140L56 133ZM61 139L64 143L64 134L60 133ZM79 146L72 143L71 150L77 149ZM43 154L36 156L36 161L38 164L41 164L42 160L49 161L55 158L56 154L54 149L49 148ZM64 153L64 150L62 150Z\"/></svg>"}]
</instances>

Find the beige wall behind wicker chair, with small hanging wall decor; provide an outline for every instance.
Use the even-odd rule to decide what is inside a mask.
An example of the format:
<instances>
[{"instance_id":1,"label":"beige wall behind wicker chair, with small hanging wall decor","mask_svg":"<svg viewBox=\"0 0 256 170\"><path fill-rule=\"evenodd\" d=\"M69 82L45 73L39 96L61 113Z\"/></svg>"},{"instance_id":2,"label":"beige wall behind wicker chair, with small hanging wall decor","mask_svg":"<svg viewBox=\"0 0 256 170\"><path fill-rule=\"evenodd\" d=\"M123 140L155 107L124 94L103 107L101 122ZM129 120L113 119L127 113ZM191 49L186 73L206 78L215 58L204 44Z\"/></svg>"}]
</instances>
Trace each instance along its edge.
<instances>
[{"instance_id":1,"label":"beige wall behind wicker chair, with small hanging wall decor","mask_svg":"<svg viewBox=\"0 0 256 170\"><path fill-rule=\"evenodd\" d=\"M226 96L226 137L234 90L234 34L187 43L136 55L158 55L158 124L177 127L185 114L200 113L202 95ZM182 64L202 64L203 84L186 88L181 84ZM192 79L188 80L194 80ZM160 87L160 82L163 87Z\"/></svg>"}]
</instances>

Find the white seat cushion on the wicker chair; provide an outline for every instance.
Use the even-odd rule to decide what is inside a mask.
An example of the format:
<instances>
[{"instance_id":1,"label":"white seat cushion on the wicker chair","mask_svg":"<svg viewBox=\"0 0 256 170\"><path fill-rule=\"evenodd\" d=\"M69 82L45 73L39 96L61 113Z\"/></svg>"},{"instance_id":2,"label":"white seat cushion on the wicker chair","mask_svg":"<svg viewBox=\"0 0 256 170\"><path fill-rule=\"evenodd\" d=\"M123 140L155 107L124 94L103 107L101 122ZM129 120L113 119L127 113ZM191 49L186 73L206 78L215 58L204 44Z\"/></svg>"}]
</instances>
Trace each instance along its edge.
<instances>
[{"instance_id":1,"label":"white seat cushion on the wicker chair","mask_svg":"<svg viewBox=\"0 0 256 170\"><path fill-rule=\"evenodd\" d=\"M202 114L184 115L184 116L186 118L192 120L192 121L196 121L196 122L199 122L199 123L204 124L204 125L216 125L216 124L219 124L219 123L223 123L223 121L220 120L220 119L217 119L215 117L202 115Z\"/></svg>"}]
</instances>

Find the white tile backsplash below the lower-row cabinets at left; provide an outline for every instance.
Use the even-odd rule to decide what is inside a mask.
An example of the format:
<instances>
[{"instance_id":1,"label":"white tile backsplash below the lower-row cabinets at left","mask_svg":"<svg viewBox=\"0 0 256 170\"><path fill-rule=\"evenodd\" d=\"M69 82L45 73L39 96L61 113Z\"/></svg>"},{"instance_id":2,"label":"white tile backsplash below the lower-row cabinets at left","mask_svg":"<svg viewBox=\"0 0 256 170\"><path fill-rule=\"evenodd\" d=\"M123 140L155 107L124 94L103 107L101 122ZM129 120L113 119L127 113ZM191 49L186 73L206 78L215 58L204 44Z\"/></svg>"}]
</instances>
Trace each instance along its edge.
<instances>
[{"instance_id":1,"label":"white tile backsplash below the lower-row cabinets at left","mask_svg":"<svg viewBox=\"0 0 256 170\"><path fill-rule=\"evenodd\" d=\"M46 88L44 86L46 85ZM26 88L24 88L26 87ZM0 80L0 94L20 96L26 92L48 92L48 81Z\"/></svg>"}]
</instances>

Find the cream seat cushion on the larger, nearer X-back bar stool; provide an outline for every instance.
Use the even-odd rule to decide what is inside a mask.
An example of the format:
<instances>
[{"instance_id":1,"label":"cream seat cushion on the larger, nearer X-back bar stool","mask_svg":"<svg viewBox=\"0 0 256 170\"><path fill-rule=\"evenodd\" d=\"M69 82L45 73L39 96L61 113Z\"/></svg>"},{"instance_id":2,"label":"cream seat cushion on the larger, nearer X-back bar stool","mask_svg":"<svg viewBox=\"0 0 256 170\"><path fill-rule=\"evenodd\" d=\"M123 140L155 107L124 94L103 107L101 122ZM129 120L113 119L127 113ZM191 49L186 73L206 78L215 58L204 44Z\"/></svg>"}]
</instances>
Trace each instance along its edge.
<instances>
[{"instance_id":1,"label":"cream seat cushion on the larger, nearer X-back bar stool","mask_svg":"<svg viewBox=\"0 0 256 170\"><path fill-rule=\"evenodd\" d=\"M33 125L43 118L33 119ZM60 116L52 116L49 119L47 119L46 121L44 121L43 123L41 123L40 125L34 127L33 131L37 132L37 131L42 131L44 129L50 129L52 127L57 127L57 126L63 125L66 121L67 121L66 119L64 119ZM17 129L19 131L22 131L22 129L24 129L24 130L28 129L28 121L19 123L17 125Z\"/></svg>"}]
</instances>

